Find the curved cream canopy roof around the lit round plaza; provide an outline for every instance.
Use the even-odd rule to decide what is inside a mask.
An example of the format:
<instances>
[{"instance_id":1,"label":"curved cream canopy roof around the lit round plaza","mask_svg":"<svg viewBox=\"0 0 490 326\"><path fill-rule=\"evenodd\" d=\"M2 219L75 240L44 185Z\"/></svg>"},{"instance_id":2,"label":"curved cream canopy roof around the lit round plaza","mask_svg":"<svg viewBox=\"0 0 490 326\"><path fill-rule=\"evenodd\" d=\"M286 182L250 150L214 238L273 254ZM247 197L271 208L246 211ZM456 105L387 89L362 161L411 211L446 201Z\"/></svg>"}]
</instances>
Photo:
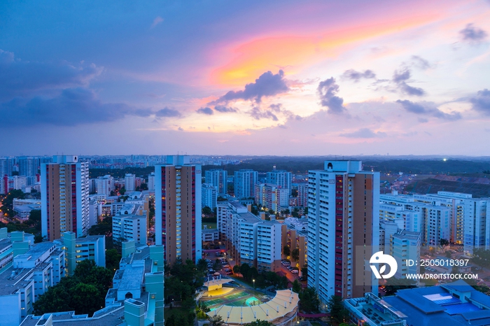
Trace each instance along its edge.
<instances>
[{"instance_id":1,"label":"curved cream canopy roof around the lit round plaza","mask_svg":"<svg viewBox=\"0 0 490 326\"><path fill-rule=\"evenodd\" d=\"M244 325L259 319L274 325L286 325L295 318L299 301L300 298L293 290L279 290L268 302L262 303L255 297L249 297L244 305L223 304L207 315L221 316L225 325Z\"/></svg>"}]
</instances>

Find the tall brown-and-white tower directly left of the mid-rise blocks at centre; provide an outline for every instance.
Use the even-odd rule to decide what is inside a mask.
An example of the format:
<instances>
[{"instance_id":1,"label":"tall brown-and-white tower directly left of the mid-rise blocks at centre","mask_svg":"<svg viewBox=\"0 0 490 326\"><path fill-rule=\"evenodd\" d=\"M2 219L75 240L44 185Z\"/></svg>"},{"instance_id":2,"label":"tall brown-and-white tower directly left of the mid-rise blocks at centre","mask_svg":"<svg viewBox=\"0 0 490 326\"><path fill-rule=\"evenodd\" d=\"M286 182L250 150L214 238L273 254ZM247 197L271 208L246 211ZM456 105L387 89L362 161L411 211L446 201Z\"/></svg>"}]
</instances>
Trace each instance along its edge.
<instances>
[{"instance_id":1,"label":"tall brown-and-white tower directly left of the mid-rise blocks at centre","mask_svg":"<svg viewBox=\"0 0 490 326\"><path fill-rule=\"evenodd\" d=\"M201 166L188 156L155 165L155 242L165 246L169 264L202 257L201 178Z\"/></svg>"}]
</instances>

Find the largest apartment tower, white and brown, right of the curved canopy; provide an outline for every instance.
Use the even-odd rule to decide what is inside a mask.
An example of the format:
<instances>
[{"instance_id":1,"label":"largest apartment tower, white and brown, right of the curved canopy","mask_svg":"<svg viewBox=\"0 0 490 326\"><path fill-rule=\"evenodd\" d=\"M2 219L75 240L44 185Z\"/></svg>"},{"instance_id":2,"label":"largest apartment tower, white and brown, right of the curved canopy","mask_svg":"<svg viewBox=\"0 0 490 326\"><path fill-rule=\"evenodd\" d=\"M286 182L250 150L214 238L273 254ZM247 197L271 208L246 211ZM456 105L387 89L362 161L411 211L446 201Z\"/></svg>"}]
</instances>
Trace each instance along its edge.
<instances>
[{"instance_id":1,"label":"largest apartment tower, white and brown, right of the curved canopy","mask_svg":"<svg viewBox=\"0 0 490 326\"><path fill-rule=\"evenodd\" d=\"M369 262L379 248L379 173L360 161L325 161L308 173L308 286L322 302L377 293Z\"/></svg>"}]
</instances>

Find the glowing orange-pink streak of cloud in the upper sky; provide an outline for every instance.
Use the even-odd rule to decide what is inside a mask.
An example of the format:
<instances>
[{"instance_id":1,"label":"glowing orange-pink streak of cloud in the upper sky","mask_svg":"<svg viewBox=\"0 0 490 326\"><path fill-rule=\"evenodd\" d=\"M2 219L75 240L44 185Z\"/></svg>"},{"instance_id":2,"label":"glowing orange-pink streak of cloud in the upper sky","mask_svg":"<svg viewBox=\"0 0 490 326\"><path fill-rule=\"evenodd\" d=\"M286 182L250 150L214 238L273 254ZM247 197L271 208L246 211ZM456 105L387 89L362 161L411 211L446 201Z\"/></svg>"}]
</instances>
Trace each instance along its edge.
<instances>
[{"instance_id":1,"label":"glowing orange-pink streak of cloud in the upper sky","mask_svg":"<svg viewBox=\"0 0 490 326\"><path fill-rule=\"evenodd\" d=\"M285 69L294 74L304 66L335 57L368 39L394 34L433 22L440 14L424 13L412 17L392 18L387 22L359 24L349 29L323 31L308 36L265 36L225 49L230 61L211 72L211 83L244 85L264 71Z\"/></svg>"}]
</instances>

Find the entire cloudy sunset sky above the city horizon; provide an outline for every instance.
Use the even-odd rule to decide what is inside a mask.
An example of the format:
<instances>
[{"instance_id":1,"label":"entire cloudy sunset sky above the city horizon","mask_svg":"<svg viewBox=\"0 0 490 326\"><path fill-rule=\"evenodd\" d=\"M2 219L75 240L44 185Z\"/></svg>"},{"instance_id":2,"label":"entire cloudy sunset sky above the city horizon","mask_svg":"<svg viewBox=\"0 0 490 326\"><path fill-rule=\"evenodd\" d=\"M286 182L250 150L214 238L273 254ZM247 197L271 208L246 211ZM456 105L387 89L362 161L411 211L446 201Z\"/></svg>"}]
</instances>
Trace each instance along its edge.
<instances>
[{"instance_id":1,"label":"entire cloudy sunset sky above the city horizon","mask_svg":"<svg viewBox=\"0 0 490 326\"><path fill-rule=\"evenodd\" d=\"M490 1L1 1L3 155L490 155Z\"/></svg>"}]
</instances>

